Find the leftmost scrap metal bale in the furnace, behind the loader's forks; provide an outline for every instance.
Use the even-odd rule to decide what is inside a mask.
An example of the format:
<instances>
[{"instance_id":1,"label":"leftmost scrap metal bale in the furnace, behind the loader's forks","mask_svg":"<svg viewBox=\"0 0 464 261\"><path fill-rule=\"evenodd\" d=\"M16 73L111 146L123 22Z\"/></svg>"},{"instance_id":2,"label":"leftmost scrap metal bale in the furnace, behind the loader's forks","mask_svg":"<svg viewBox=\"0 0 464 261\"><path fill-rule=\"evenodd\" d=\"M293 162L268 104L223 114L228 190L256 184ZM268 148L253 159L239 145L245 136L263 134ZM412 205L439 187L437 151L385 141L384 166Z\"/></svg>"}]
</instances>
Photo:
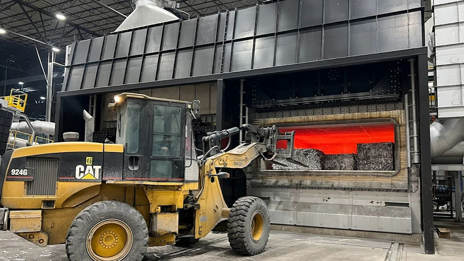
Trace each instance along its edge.
<instances>
[{"instance_id":1,"label":"leftmost scrap metal bale in the furnace, behind the loader's forks","mask_svg":"<svg viewBox=\"0 0 464 261\"><path fill-rule=\"evenodd\" d=\"M286 149L277 149L277 154L285 154ZM301 163L306 164L309 167L303 167L298 164L288 162L286 159L276 158L274 161L285 164L287 166L280 166L273 164L272 169L275 170L321 170L322 169L322 158L324 152L317 149L295 149L293 152L293 159Z\"/></svg>"}]
</instances>

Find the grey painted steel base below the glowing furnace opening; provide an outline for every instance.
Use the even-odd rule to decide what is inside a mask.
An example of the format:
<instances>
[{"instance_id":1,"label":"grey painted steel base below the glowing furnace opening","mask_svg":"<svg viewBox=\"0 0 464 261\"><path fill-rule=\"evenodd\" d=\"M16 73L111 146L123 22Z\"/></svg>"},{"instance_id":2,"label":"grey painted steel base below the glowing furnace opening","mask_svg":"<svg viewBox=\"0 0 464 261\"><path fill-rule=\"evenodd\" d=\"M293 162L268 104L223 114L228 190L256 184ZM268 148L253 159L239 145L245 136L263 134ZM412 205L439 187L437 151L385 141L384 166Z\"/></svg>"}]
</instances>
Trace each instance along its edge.
<instances>
[{"instance_id":1,"label":"grey painted steel base below the glowing furnace opening","mask_svg":"<svg viewBox=\"0 0 464 261\"><path fill-rule=\"evenodd\" d=\"M254 188L272 224L412 234L407 192Z\"/></svg>"}]
</instances>

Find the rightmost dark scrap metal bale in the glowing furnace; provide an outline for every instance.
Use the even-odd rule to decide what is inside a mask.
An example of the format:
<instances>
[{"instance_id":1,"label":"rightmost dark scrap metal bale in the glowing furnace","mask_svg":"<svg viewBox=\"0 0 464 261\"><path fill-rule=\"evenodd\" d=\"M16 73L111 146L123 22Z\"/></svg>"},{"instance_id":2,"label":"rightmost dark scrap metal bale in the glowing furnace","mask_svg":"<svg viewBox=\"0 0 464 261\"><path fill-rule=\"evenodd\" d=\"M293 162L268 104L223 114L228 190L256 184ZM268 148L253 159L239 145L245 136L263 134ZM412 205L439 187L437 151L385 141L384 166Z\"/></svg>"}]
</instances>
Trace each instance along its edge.
<instances>
[{"instance_id":1,"label":"rightmost dark scrap metal bale in the glowing furnace","mask_svg":"<svg viewBox=\"0 0 464 261\"><path fill-rule=\"evenodd\" d=\"M394 170L394 143L357 144L358 170Z\"/></svg>"}]
</instances>

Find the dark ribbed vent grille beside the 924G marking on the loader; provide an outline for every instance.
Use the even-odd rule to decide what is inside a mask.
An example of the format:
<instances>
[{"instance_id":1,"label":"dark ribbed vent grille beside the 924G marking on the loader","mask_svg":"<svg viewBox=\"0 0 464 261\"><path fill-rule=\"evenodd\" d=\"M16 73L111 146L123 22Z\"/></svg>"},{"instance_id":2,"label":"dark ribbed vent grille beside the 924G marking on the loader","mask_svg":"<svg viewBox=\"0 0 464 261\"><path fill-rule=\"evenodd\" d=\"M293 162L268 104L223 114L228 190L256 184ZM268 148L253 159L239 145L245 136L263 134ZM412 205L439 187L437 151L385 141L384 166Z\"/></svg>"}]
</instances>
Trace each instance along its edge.
<instances>
[{"instance_id":1,"label":"dark ribbed vent grille beside the 924G marking on the loader","mask_svg":"<svg viewBox=\"0 0 464 261\"><path fill-rule=\"evenodd\" d=\"M26 195L55 195L58 159L28 158L26 166L34 169L34 180L27 182Z\"/></svg>"}]
</instances>

